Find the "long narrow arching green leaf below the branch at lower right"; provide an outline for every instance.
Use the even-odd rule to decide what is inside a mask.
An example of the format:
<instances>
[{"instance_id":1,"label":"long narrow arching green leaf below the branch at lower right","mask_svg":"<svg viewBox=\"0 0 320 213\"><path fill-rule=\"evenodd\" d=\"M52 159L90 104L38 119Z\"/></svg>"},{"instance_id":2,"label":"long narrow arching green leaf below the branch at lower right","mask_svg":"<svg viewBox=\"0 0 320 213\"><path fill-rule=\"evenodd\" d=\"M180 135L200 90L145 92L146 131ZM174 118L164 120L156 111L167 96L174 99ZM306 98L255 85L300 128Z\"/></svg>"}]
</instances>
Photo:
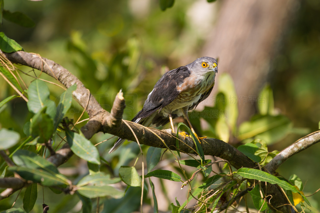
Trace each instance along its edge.
<instances>
[{"instance_id":1,"label":"long narrow arching green leaf below the branch at lower right","mask_svg":"<svg viewBox=\"0 0 320 213\"><path fill-rule=\"evenodd\" d=\"M307 198L304 195L302 195L298 189L296 189L294 186L292 186L288 182L284 180L280 180L279 178L265 171L260 171L257 169L250 169L250 168L240 168L236 173L244 178L265 181L271 184L278 184L278 186L282 187L285 190L290 190L294 193L299 193L303 197L303 199L308 203L308 205L310 205Z\"/></svg>"}]
</instances>

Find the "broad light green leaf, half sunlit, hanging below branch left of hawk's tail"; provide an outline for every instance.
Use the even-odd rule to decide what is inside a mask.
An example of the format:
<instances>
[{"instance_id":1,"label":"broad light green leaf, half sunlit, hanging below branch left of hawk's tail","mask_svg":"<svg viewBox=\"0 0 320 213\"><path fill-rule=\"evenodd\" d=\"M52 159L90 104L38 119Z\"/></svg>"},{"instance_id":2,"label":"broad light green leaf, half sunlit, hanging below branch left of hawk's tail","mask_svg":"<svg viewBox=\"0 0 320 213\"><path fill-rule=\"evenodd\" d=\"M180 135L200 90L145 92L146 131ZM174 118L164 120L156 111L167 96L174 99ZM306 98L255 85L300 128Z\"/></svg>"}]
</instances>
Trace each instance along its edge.
<instances>
[{"instance_id":1,"label":"broad light green leaf, half sunlit, hanging below branch left of hawk's tail","mask_svg":"<svg viewBox=\"0 0 320 213\"><path fill-rule=\"evenodd\" d=\"M141 187L141 177L134 166L121 166L119 169L119 177L129 186Z\"/></svg>"}]
</instances>

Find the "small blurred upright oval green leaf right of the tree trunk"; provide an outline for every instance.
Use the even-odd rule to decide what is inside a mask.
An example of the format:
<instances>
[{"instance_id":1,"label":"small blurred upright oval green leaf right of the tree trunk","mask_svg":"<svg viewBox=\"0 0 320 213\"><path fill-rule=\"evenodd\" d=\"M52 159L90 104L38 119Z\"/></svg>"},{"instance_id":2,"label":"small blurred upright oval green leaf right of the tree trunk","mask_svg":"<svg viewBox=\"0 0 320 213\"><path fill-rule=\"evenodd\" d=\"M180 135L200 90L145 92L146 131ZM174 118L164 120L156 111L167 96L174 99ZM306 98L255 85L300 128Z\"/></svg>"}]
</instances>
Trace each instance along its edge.
<instances>
[{"instance_id":1,"label":"small blurred upright oval green leaf right of the tree trunk","mask_svg":"<svg viewBox=\"0 0 320 213\"><path fill-rule=\"evenodd\" d=\"M259 94L258 110L260 115L274 115L273 93L269 84L267 84Z\"/></svg>"}]
</instances>

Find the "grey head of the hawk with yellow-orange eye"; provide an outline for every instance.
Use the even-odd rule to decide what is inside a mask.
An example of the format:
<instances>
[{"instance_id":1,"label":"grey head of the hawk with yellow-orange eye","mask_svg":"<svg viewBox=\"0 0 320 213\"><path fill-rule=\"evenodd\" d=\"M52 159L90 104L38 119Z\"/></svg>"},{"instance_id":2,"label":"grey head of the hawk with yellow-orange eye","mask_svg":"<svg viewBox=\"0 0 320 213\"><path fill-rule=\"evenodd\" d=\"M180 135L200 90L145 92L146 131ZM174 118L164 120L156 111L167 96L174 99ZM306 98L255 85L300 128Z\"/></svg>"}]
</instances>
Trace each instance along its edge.
<instances>
[{"instance_id":1,"label":"grey head of the hawk with yellow-orange eye","mask_svg":"<svg viewBox=\"0 0 320 213\"><path fill-rule=\"evenodd\" d=\"M199 72L218 72L218 62L212 57L198 58L194 62L186 65L186 67Z\"/></svg>"}]
</instances>

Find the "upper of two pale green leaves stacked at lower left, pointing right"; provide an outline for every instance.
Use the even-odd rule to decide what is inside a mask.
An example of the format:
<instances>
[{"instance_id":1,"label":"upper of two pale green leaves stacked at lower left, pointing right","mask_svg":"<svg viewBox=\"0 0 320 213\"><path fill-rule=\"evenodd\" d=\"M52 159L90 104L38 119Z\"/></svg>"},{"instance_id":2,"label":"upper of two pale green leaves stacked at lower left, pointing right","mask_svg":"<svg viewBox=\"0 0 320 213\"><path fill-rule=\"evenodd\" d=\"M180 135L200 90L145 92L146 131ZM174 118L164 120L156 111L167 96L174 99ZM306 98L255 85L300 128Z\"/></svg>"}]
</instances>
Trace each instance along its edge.
<instances>
[{"instance_id":1,"label":"upper of two pale green leaves stacked at lower left, pointing right","mask_svg":"<svg viewBox=\"0 0 320 213\"><path fill-rule=\"evenodd\" d=\"M94 186L105 186L105 185L110 185L114 183L120 182L120 178L110 178L110 175L106 175L103 172L99 172L93 175L87 175L84 178L82 178L77 186L84 186L84 185L94 185Z\"/></svg>"}]
</instances>

